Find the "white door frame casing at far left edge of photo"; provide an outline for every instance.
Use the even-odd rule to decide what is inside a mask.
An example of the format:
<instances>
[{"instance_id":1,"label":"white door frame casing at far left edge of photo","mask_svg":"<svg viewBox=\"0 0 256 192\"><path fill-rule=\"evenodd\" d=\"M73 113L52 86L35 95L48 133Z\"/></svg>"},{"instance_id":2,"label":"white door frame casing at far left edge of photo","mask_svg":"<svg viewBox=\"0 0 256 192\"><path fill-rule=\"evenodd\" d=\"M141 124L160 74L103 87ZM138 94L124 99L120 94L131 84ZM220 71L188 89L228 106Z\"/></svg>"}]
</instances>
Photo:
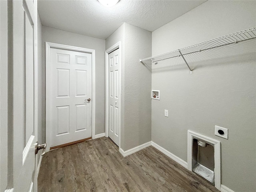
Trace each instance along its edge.
<instances>
[{"instance_id":1,"label":"white door frame casing at far left edge of photo","mask_svg":"<svg viewBox=\"0 0 256 192\"><path fill-rule=\"evenodd\" d=\"M8 187L8 83L10 82L8 82L7 4L7 0L0 1L0 191Z\"/></svg>"}]
</instances>

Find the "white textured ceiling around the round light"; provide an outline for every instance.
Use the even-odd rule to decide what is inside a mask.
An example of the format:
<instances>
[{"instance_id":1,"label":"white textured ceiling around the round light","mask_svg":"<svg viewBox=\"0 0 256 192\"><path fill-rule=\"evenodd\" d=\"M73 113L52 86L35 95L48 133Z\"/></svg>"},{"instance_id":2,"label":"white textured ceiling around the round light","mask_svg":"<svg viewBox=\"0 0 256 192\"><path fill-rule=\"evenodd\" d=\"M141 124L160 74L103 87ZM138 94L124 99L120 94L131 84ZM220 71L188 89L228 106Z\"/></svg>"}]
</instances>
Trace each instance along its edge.
<instances>
[{"instance_id":1,"label":"white textured ceiling around the round light","mask_svg":"<svg viewBox=\"0 0 256 192\"><path fill-rule=\"evenodd\" d=\"M42 25L106 39L122 23L154 31L206 0L120 0L105 7L97 0L38 0Z\"/></svg>"}]
</instances>

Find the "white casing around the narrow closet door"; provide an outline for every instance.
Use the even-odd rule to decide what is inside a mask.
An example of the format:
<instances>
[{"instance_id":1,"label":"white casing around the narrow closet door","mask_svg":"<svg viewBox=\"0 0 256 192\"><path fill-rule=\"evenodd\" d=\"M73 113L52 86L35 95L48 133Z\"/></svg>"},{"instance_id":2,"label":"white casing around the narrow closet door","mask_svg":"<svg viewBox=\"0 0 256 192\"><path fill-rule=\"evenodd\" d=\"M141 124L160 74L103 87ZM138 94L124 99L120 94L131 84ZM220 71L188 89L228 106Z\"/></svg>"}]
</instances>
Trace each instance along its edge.
<instances>
[{"instance_id":1,"label":"white casing around the narrow closet door","mask_svg":"<svg viewBox=\"0 0 256 192\"><path fill-rule=\"evenodd\" d=\"M119 48L119 61L120 61L120 65L119 65L119 70L120 70L120 78L119 78L119 90L120 90L120 95L121 95L121 64L122 64L122 55L121 55L121 42L117 42L116 44L114 44L113 46L111 46L110 48L108 48L105 51L105 71L106 71L106 113L105 113L105 137L108 137L108 109L109 109L109 100L108 100L108 86L109 86L109 81L108 81L108 54L110 54L112 51L116 50ZM120 97L120 102L121 102L121 97ZM120 105L122 106L122 105ZM121 113L121 110L119 110L119 113ZM120 116L120 122L121 122L121 114L119 114ZM121 123L119 126L119 149L121 148Z\"/></svg>"}]
</instances>

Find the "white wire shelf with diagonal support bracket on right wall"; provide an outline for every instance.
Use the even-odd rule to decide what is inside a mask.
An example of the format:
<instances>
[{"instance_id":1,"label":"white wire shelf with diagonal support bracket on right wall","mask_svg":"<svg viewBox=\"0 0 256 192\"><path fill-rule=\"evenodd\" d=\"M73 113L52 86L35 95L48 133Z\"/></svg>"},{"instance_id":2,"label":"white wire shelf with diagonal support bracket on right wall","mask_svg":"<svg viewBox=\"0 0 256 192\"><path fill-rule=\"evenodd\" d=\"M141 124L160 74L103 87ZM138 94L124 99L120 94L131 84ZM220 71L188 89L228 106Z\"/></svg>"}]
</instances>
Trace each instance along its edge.
<instances>
[{"instance_id":1,"label":"white wire shelf with diagonal support bracket on right wall","mask_svg":"<svg viewBox=\"0 0 256 192\"><path fill-rule=\"evenodd\" d=\"M152 63L154 63L154 62L158 62L160 60L182 56L182 58L184 59L186 65L188 66L188 68L190 70L190 73L192 73L192 70L191 70L190 66L188 65L188 63L186 62L184 55L192 54L195 52L201 52L204 50L209 50L212 48L216 48L216 47L220 47L220 46L224 46L224 45L228 45L228 44L233 44L233 43L238 43L241 41L246 41L246 40L250 40L250 39L254 39L254 38L256 38L256 27L242 30L239 32L235 32L232 34L228 34L225 36L221 36L218 38L214 38L214 39L211 39L208 41L204 41L204 42L201 42L198 44L180 48L180 49L177 49L177 50L174 50L171 52L167 52L164 54L152 56L152 57L145 58L145 59L140 59L140 62L143 63L144 61L151 61Z\"/></svg>"}]
</instances>

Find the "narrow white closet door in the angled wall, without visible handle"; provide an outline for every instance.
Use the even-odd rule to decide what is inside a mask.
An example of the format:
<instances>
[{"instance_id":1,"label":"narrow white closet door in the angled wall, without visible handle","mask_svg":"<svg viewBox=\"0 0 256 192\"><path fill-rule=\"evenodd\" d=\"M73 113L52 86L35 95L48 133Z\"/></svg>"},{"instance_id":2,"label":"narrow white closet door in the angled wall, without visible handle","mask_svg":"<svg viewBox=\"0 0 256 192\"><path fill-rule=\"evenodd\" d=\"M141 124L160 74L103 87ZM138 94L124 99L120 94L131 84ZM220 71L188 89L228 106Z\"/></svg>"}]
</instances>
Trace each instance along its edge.
<instances>
[{"instance_id":1,"label":"narrow white closet door in the angled wall, without visible handle","mask_svg":"<svg viewBox=\"0 0 256 192\"><path fill-rule=\"evenodd\" d=\"M108 136L120 144L120 55L119 49L108 54Z\"/></svg>"}]
</instances>

